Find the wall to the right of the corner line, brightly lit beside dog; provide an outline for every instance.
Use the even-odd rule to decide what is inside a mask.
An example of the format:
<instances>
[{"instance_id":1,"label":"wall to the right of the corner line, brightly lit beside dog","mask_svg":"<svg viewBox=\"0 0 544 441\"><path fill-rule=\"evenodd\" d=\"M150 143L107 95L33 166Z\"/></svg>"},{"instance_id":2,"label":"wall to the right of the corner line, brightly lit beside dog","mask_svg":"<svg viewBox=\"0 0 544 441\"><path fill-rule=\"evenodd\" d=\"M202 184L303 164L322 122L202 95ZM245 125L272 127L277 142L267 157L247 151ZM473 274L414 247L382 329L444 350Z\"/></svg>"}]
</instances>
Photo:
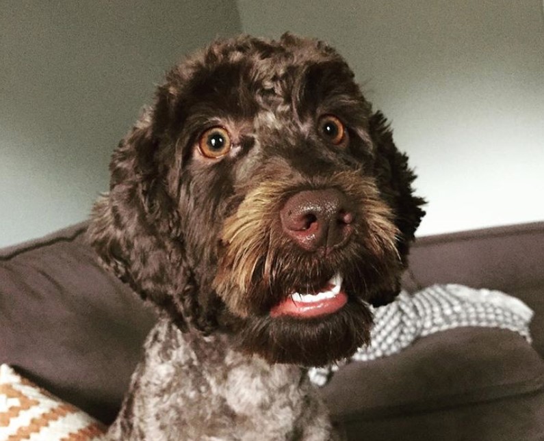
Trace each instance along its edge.
<instances>
[{"instance_id":1,"label":"wall to the right of the corner line, brightly lit beside dog","mask_svg":"<svg viewBox=\"0 0 544 441\"><path fill-rule=\"evenodd\" d=\"M239 0L244 31L328 40L428 198L419 235L544 219L541 0Z\"/></svg>"}]
</instances>

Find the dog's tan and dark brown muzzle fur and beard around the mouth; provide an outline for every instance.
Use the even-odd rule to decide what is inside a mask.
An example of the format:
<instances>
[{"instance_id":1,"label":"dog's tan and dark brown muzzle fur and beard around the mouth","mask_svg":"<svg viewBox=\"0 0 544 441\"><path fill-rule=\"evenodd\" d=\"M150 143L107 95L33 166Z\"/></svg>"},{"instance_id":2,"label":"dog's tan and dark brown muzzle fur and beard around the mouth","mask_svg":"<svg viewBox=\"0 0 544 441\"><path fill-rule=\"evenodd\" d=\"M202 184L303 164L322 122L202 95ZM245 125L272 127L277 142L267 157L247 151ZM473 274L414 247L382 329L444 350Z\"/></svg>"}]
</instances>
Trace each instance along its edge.
<instances>
[{"instance_id":1,"label":"dog's tan and dark brown muzzle fur and beard around the mouth","mask_svg":"<svg viewBox=\"0 0 544 441\"><path fill-rule=\"evenodd\" d=\"M213 289L226 306L222 321L241 351L273 363L322 366L369 343L367 301L398 286L398 230L371 181L356 172L337 174L333 181L356 202L359 221L350 242L328 256L299 250L281 234L276 214L288 190L277 181L249 193L226 219ZM318 302L305 304L304 297L330 297L324 287L331 278L342 280L331 293L341 298L324 300L320 314L313 308ZM313 312L289 305L297 299Z\"/></svg>"}]
</instances>

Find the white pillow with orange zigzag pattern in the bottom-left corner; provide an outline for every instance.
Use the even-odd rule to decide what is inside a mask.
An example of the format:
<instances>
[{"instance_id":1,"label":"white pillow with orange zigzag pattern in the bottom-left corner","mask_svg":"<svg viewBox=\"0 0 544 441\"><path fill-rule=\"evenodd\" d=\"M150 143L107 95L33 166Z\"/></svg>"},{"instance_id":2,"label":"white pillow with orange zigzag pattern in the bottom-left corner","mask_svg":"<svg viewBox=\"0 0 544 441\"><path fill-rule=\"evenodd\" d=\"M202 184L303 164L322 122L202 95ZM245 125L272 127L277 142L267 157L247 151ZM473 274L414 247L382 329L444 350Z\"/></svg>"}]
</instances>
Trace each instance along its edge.
<instances>
[{"instance_id":1,"label":"white pillow with orange zigzag pattern in the bottom-left corner","mask_svg":"<svg viewBox=\"0 0 544 441\"><path fill-rule=\"evenodd\" d=\"M98 441L105 427L85 412L64 403L0 366L0 441Z\"/></svg>"}]
</instances>

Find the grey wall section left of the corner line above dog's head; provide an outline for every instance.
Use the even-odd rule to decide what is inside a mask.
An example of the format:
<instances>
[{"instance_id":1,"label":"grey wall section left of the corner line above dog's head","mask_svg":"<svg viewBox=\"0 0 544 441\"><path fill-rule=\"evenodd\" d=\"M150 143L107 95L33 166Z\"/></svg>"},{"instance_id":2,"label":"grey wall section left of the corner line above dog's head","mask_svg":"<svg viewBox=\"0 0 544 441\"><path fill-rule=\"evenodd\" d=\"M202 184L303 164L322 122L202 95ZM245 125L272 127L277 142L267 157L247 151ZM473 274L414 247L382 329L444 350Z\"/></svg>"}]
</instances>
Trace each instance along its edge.
<instances>
[{"instance_id":1,"label":"grey wall section left of the corner line above dog's head","mask_svg":"<svg viewBox=\"0 0 544 441\"><path fill-rule=\"evenodd\" d=\"M240 29L234 1L3 1L0 246L85 219L164 70Z\"/></svg>"}]
</instances>

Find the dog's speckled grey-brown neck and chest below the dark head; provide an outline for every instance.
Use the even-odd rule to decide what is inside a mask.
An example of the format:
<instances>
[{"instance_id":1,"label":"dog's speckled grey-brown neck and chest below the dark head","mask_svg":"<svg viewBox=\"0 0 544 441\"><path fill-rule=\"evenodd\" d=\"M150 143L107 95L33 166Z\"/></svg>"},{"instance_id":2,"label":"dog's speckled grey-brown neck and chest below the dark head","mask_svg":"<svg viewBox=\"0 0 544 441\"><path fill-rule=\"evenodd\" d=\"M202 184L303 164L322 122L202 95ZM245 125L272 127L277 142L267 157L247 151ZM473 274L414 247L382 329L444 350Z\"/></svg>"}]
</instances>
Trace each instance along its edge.
<instances>
[{"instance_id":1,"label":"dog's speckled grey-brown neck and chest below the dark head","mask_svg":"<svg viewBox=\"0 0 544 441\"><path fill-rule=\"evenodd\" d=\"M335 439L298 366L268 364L235 351L226 334L183 333L166 318L144 350L110 440L146 440L165 427L164 440Z\"/></svg>"}]
</instances>

